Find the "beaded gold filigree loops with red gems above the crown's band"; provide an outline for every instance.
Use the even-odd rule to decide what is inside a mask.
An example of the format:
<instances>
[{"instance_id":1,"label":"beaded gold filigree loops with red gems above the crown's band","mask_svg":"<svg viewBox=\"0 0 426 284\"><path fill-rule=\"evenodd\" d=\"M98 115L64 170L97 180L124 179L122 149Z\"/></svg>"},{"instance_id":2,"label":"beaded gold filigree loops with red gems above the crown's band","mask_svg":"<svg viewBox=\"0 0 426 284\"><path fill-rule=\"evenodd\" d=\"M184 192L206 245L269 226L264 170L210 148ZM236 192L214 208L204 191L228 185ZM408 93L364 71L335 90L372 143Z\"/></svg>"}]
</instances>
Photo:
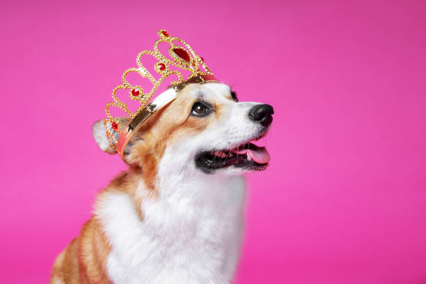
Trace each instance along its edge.
<instances>
[{"instance_id":1,"label":"beaded gold filigree loops with red gems above the crown's band","mask_svg":"<svg viewBox=\"0 0 426 284\"><path fill-rule=\"evenodd\" d=\"M118 85L116 86L116 88L113 89L113 102L109 102L105 109L107 112L107 118L104 120L104 127L105 129L107 129L107 138L109 140L109 143L111 143L111 147L113 147L114 150L117 150L116 145L118 144L118 141L113 134L114 132L123 134L124 130L123 125L121 125L120 123L120 120L111 116L110 107L116 107L118 109L121 109L125 111L125 113L127 113L130 118L135 118L139 113L141 113L143 109L145 109L145 107L147 107L147 104L150 101L152 95L154 95L155 91L159 88L161 83L167 77L175 75L178 79L172 81L171 84L178 85L187 79L205 75L212 75L210 69L207 67L207 65L205 65L204 59L198 56L191 48L191 46L187 44L187 42L184 42L184 40L181 40L180 38L174 38L170 36L170 34L165 30L159 30L158 35L160 38L155 42L153 50L144 50L143 52L140 52L136 57L137 68L129 68L123 73L123 84ZM167 58L166 56L161 54L161 52L159 52L158 45L161 42L168 42L168 44L170 45L170 47L168 48L168 54L170 54L172 59ZM175 42L180 42L182 46L175 45ZM141 63L143 56L147 54L157 58L157 63L155 63L154 69L155 72L161 75L161 77L159 77L159 79L157 80L154 78L154 76L152 76L152 74L150 74L150 72L148 72L148 70ZM187 76L187 78L184 79L182 73L178 70L171 70L171 66L186 70L189 72L189 75ZM203 69L201 69L201 67ZM152 83L152 89L147 92L141 86L129 84L129 82L127 81L127 75L131 73L137 73L141 77L149 79ZM130 111L127 107L127 104L118 99L116 92L120 89L129 90L130 100L136 100L141 104L135 112ZM145 116L150 116L150 114L152 114L152 111L149 106L147 109L148 111L145 111L145 113L147 113ZM147 118L145 118L145 120L146 119Z\"/></svg>"}]
</instances>

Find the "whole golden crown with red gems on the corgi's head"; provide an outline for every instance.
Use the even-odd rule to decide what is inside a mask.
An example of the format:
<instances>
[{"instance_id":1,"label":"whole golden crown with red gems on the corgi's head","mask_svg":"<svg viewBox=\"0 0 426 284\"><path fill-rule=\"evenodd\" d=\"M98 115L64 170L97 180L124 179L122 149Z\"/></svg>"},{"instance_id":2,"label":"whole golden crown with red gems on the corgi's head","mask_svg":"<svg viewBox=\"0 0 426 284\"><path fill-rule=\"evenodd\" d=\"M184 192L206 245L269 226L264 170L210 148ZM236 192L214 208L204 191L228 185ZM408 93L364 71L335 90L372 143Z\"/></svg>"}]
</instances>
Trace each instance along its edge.
<instances>
[{"instance_id":1,"label":"whole golden crown with red gems on the corgi's head","mask_svg":"<svg viewBox=\"0 0 426 284\"><path fill-rule=\"evenodd\" d=\"M148 120L153 113L162 107L165 107L166 104L178 96L179 90L182 89L178 88L178 86L182 86L186 83L203 84L210 81L217 81L212 72L210 72L210 69L207 65L205 65L204 59L198 56L187 42L184 42L184 40L181 40L180 38L172 37L165 30L159 30L158 35L160 38L155 42L153 50L144 50L136 57L136 64L138 67L129 68L123 73L123 84L118 85L113 89L113 102L109 102L105 108L107 118L104 119L104 127L107 130L107 138L111 147L122 157L127 143L129 143L130 139L132 139L132 136L141 127L141 125ZM168 54L171 56L170 58L164 56L164 54L161 54L159 51L158 46L161 42L166 42L170 45L168 48ZM147 68L145 68L141 63L142 57L147 54L157 59L157 63L154 65L154 70L159 74L159 79L155 79L155 77L148 72ZM184 79L184 76L182 75L183 70L186 70L187 73L189 73L186 79ZM141 86L129 84L127 81L127 75L132 73L139 74L141 77L149 79L152 83L152 89L149 92L146 92ZM164 80L171 75L175 75L175 77L177 77L175 81L171 81L171 84L175 86L175 92L165 92L157 96L155 100L152 100L152 102L148 104L155 91L159 88L159 86L161 86L161 83L163 83ZM132 112L125 102L118 99L116 93L120 89L129 90L130 100L139 102L140 106L136 111ZM132 118L129 125L123 127L118 117L111 116L110 107L116 107L125 111L125 113ZM114 137L114 134L117 133L120 135L118 136L118 139Z\"/></svg>"}]
</instances>

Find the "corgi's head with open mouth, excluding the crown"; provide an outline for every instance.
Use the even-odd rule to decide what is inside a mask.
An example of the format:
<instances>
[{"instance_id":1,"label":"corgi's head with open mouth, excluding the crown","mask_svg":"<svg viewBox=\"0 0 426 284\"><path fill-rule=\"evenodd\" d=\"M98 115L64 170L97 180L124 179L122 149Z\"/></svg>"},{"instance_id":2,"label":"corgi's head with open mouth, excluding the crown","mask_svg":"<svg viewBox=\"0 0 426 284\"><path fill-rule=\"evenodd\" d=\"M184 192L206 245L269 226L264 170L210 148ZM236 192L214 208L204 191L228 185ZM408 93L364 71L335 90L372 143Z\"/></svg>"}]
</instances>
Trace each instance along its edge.
<instances>
[{"instance_id":1,"label":"corgi's head with open mouth, excluding the crown","mask_svg":"<svg viewBox=\"0 0 426 284\"><path fill-rule=\"evenodd\" d=\"M176 171L191 167L208 174L260 171L267 167L269 154L251 141L265 136L273 113L269 104L238 102L225 84L189 84L139 129L124 159L143 173L157 173L160 163ZM120 118L122 125L129 119ZM93 135L102 150L115 153L102 121L93 125Z\"/></svg>"}]
</instances>

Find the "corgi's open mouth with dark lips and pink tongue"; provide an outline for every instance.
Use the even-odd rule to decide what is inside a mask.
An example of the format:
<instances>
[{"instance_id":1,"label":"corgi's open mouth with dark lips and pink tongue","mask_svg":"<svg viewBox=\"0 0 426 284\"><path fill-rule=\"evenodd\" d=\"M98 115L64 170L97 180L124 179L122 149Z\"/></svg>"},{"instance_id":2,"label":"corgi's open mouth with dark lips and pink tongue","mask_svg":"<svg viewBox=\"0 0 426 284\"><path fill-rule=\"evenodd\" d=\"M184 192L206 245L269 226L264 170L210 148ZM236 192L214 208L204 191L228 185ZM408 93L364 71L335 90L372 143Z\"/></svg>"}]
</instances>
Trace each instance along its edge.
<instances>
[{"instance_id":1,"label":"corgi's open mouth with dark lips and pink tongue","mask_svg":"<svg viewBox=\"0 0 426 284\"><path fill-rule=\"evenodd\" d=\"M256 140L256 139L255 139ZM247 171L262 171L267 168L269 153L265 147L251 142L242 143L232 150L201 152L196 157L196 166L206 173L219 168L234 166Z\"/></svg>"}]
</instances>

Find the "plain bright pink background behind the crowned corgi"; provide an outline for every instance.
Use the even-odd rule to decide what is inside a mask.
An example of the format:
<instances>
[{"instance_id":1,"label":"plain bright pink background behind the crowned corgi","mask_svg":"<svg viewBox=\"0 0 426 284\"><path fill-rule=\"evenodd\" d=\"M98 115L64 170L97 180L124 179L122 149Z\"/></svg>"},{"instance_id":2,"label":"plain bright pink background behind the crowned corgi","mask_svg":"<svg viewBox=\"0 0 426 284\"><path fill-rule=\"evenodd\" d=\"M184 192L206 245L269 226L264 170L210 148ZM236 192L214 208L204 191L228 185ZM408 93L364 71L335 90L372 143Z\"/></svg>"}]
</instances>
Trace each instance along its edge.
<instances>
[{"instance_id":1,"label":"plain bright pink background behind the crowned corgi","mask_svg":"<svg viewBox=\"0 0 426 284\"><path fill-rule=\"evenodd\" d=\"M125 168L90 127L160 28L276 110L237 283L426 283L425 1L17 2L0 7L0 283L47 283Z\"/></svg>"}]
</instances>

